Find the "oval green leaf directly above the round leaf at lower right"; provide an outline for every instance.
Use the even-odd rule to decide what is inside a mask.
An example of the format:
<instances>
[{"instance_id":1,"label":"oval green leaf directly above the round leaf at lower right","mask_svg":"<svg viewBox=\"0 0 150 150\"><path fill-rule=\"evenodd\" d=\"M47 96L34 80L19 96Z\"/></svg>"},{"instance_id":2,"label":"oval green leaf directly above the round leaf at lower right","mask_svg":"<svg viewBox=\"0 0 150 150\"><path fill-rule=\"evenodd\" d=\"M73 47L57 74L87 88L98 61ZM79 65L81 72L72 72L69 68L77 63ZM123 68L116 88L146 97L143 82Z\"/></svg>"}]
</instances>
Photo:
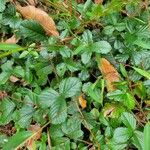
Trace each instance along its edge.
<instances>
[{"instance_id":1,"label":"oval green leaf directly above the round leaf at lower right","mask_svg":"<svg viewBox=\"0 0 150 150\"><path fill-rule=\"evenodd\" d=\"M124 112L121 115L121 120L125 124L126 127L135 130L136 129L136 119L133 117L132 114L128 112Z\"/></svg>"}]
</instances>

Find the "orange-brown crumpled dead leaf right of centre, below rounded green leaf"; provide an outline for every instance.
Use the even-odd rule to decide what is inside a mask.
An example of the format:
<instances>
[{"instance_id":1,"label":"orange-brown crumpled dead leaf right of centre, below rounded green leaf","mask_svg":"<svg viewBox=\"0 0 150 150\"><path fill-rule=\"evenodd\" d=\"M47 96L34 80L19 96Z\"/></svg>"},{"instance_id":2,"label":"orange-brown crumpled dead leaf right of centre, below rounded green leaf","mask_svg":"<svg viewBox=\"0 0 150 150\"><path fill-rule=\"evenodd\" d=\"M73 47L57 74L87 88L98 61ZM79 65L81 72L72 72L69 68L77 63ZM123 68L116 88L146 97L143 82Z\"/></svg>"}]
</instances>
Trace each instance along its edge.
<instances>
[{"instance_id":1,"label":"orange-brown crumpled dead leaf right of centre, below rounded green leaf","mask_svg":"<svg viewBox=\"0 0 150 150\"><path fill-rule=\"evenodd\" d=\"M117 70L105 58L101 58L99 63L99 69L106 81L107 90L108 91L115 90L116 88L113 82L119 81L119 74Z\"/></svg>"}]
</instances>

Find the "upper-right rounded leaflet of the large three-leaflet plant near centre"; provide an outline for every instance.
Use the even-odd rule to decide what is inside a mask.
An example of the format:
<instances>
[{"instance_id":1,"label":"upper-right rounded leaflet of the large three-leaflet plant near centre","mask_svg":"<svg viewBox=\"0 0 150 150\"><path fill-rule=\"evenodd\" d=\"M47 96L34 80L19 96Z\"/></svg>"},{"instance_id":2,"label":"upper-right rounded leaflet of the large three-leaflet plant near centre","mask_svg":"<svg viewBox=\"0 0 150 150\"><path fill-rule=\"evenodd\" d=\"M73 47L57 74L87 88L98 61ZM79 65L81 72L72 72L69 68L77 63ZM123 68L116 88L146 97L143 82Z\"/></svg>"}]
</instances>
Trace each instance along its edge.
<instances>
[{"instance_id":1,"label":"upper-right rounded leaflet of the large three-leaflet plant near centre","mask_svg":"<svg viewBox=\"0 0 150 150\"><path fill-rule=\"evenodd\" d=\"M75 96L80 93L82 83L76 77L69 77L61 81L59 92L66 98Z\"/></svg>"}]
</instances>

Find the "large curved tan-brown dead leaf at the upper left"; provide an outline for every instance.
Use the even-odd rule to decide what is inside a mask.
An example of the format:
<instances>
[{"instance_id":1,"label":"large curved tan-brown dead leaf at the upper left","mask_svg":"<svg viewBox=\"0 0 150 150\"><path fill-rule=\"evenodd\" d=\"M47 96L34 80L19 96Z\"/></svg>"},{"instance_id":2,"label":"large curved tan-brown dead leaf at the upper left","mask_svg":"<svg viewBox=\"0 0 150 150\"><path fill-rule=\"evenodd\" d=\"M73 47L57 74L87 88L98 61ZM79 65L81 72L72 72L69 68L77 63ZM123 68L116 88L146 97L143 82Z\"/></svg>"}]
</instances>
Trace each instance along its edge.
<instances>
[{"instance_id":1,"label":"large curved tan-brown dead leaf at the upper left","mask_svg":"<svg viewBox=\"0 0 150 150\"><path fill-rule=\"evenodd\" d=\"M43 27L47 35L59 36L55 22L45 11L31 5L25 7L16 5L16 9L24 18L37 21Z\"/></svg>"}]
</instances>

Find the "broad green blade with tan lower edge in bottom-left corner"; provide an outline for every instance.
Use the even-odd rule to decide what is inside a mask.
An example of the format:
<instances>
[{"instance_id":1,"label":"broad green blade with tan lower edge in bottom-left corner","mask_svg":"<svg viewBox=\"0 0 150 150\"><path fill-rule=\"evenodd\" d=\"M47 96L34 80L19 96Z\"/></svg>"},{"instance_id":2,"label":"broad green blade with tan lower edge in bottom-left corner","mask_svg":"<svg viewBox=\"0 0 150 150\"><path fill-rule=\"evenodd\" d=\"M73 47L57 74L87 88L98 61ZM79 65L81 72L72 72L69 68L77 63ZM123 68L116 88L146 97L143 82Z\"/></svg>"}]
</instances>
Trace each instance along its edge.
<instances>
[{"instance_id":1,"label":"broad green blade with tan lower edge in bottom-left corner","mask_svg":"<svg viewBox=\"0 0 150 150\"><path fill-rule=\"evenodd\" d=\"M3 150L18 149L26 142L33 133L30 131L21 131L8 139L8 142L3 146Z\"/></svg>"}]
</instances>

